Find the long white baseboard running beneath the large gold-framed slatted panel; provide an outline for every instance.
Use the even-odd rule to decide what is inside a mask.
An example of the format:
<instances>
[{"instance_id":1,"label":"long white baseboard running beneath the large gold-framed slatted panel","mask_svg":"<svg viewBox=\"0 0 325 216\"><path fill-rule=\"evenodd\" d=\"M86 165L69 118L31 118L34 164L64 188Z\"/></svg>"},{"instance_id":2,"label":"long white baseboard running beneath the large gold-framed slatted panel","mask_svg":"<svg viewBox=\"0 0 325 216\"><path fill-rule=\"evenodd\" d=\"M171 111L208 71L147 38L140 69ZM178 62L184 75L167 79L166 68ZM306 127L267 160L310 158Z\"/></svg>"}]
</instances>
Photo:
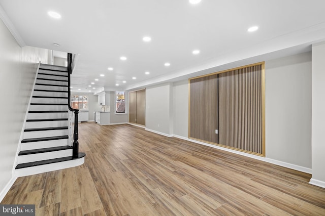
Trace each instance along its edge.
<instances>
[{"instance_id":1,"label":"long white baseboard running beneath the large gold-framed slatted panel","mask_svg":"<svg viewBox=\"0 0 325 216\"><path fill-rule=\"evenodd\" d=\"M257 156L257 155L253 155L253 154L249 154L249 153L245 153L245 152L241 152L241 151L236 151L236 150L233 150L233 149L228 149L228 148L224 148L224 147L221 147L221 146L212 145L212 144L200 142L200 141L197 141L197 140L188 139L186 137L181 137L181 136L177 136L177 135L174 135L174 137L182 139L182 140L190 141L190 142L193 142L193 143L198 143L198 144L201 144L201 145L205 145L205 146L210 146L210 147L215 148L215 149L220 149L220 150L223 150L223 151L228 151L228 152L243 155L243 156L246 156L246 157L254 158L254 159L257 159L257 160L265 161L265 162L268 162L268 163L276 164L276 165L283 166L283 167L286 167L286 168L306 172L308 174L312 173L312 169L308 168L308 167L303 167L303 166L299 166L299 165L295 165L295 164L291 164L291 163L287 163L287 162L283 162L283 161L279 161L279 160L274 160L274 159L271 159L271 158L266 158L266 157Z\"/></svg>"}]
</instances>

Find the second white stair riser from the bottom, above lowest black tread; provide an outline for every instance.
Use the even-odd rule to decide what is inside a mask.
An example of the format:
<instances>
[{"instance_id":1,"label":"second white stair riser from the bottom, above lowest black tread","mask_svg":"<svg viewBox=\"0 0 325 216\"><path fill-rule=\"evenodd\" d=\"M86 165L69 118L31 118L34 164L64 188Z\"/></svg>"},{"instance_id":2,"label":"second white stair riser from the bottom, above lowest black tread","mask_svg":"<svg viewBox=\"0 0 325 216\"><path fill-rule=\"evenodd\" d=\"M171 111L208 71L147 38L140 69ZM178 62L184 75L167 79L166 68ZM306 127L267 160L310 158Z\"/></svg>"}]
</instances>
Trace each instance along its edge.
<instances>
[{"instance_id":1,"label":"second white stair riser from the bottom, above lowest black tread","mask_svg":"<svg viewBox=\"0 0 325 216\"><path fill-rule=\"evenodd\" d=\"M19 155L18 163L28 163L32 161L48 160L48 159L68 157L68 156L72 156L72 149L45 152L39 154Z\"/></svg>"}]
</instances>

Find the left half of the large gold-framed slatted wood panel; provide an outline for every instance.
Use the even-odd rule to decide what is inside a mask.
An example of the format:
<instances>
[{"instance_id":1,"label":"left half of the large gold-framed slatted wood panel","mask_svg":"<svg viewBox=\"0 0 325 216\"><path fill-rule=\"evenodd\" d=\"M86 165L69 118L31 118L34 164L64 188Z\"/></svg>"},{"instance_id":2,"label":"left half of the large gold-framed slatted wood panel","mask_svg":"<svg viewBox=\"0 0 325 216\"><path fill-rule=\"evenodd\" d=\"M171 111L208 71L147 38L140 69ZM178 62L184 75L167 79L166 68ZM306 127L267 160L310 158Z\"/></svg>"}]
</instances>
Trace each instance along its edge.
<instances>
[{"instance_id":1,"label":"left half of the large gold-framed slatted wood panel","mask_svg":"<svg viewBox=\"0 0 325 216\"><path fill-rule=\"evenodd\" d=\"M190 80L189 137L217 143L217 74Z\"/></svg>"}]
</instances>

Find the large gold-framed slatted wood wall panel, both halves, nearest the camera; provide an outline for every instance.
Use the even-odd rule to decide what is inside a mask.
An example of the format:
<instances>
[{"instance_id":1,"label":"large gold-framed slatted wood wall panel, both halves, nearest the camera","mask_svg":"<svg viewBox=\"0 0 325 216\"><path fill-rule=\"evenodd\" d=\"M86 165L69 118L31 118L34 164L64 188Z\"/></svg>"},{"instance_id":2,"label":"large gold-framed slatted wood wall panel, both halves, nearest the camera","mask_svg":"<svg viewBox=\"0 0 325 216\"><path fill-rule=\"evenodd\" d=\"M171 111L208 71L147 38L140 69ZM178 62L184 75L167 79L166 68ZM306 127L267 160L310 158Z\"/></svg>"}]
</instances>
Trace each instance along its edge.
<instances>
[{"instance_id":1,"label":"large gold-framed slatted wood wall panel, both halves, nearest the camera","mask_svg":"<svg viewBox=\"0 0 325 216\"><path fill-rule=\"evenodd\" d=\"M189 79L189 138L265 156L264 74L262 62Z\"/></svg>"}]
</instances>

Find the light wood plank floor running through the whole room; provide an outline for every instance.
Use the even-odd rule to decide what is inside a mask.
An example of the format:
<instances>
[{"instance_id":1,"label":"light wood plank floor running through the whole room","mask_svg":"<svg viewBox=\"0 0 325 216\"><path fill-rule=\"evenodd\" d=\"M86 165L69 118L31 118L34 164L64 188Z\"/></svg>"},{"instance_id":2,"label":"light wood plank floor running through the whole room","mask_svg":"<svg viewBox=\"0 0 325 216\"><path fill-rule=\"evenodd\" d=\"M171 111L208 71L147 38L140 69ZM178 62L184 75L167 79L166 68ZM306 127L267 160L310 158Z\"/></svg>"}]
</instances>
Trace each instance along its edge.
<instances>
[{"instance_id":1,"label":"light wood plank floor running through the whole room","mask_svg":"<svg viewBox=\"0 0 325 216\"><path fill-rule=\"evenodd\" d=\"M81 166L18 178L36 215L325 215L309 174L132 125L79 125Z\"/></svg>"}]
</instances>

